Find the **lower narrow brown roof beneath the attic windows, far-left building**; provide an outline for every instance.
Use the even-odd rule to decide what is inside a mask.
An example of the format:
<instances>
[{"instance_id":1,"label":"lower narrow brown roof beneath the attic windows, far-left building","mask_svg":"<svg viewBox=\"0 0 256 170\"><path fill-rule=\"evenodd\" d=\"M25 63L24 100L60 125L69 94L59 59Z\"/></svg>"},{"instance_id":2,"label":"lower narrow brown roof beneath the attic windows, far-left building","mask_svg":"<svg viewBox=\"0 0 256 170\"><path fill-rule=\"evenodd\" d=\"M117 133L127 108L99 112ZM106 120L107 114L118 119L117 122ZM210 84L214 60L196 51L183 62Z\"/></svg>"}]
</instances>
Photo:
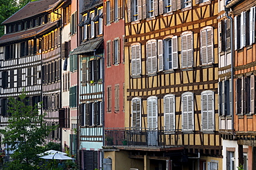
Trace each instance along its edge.
<instances>
[{"instance_id":1,"label":"lower narrow brown roof beneath the attic windows, far-left building","mask_svg":"<svg viewBox=\"0 0 256 170\"><path fill-rule=\"evenodd\" d=\"M29 39L31 37L37 36L38 34L43 34L47 30L57 26L57 21L53 23L47 23L45 25L40 25L39 27L32 28L29 30L24 30L21 32L14 32L11 34L4 34L0 37L0 45L3 43L10 43L12 41L21 41L23 39Z\"/></svg>"}]
</instances>

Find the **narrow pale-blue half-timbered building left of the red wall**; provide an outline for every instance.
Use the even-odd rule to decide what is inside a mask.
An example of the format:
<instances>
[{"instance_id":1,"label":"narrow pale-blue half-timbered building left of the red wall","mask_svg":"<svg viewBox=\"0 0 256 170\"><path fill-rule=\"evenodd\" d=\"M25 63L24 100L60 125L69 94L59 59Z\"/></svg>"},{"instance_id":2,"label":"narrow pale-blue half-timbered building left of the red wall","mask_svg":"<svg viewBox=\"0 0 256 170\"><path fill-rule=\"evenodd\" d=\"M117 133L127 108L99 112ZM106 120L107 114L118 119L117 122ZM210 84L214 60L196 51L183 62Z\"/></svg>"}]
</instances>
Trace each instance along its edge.
<instances>
[{"instance_id":1,"label":"narrow pale-blue half-timbered building left of the red wall","mask_svg":"<svg viewBox=\"0 0 256 170\"><path fill-rule=\"evenodd\" d=\"M78 92L78 97L73 98L73 101L76 100L76 106L79 106L80 169L102 169L104 69L102 1L84 1L80 13L82 19L78 26L81 43L71 52L73 61L70 62L71 65L72 63L76 65L73 69L77 70L78 89L74 90Z\"/></svg>"}]
</instances>

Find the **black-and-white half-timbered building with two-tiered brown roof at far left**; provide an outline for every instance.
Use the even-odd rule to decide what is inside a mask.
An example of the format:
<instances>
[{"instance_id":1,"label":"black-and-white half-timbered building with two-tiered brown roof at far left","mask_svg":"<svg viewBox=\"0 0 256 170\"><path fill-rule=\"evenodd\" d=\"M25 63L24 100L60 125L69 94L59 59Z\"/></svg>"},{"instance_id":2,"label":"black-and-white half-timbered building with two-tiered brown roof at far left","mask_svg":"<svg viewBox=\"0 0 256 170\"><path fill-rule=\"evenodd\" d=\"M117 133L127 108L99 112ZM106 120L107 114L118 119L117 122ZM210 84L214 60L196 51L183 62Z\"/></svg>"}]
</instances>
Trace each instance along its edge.
<instances>
[{"instance_id":1,"label":"black-and-white half-timbered building with two-tiered brown roof at far left","mask_svg":"<svg viewBox=\"0 0 256 170\"><path fill-rule=\"evenodd\" d=\"M35 105L42 101L42 80L46 83L42 58L46 58L46 49L55 48L58 42L59 22L52 20L51 12L59 3L57 0L30 2L3 22L5 34L0 38L1 127L8 120L10 96L17 97L24 91L28 95L28 104ZM51 46L46 45L46 35ZM54 74L56 77L50 78L49 75L47 83L57 80L57 72ZM44 107L46 105L44 103ZM48 106L55 107L53 103L48 103Z\"/></svg>"}]
</instances>

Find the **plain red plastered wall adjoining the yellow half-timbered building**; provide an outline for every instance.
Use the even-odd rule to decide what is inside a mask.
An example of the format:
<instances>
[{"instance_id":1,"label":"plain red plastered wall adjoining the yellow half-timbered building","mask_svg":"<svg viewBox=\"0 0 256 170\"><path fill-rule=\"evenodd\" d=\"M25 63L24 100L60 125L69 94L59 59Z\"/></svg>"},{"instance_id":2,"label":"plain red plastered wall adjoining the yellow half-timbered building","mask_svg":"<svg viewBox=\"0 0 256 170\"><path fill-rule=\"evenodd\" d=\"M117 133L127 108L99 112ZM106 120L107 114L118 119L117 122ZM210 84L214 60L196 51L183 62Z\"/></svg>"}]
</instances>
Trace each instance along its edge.
<instances>
[{"instance_id":1,"label":"plain red plastered wall adjoining the yellow half-timbered building","mask_svg":"<svg viewBox=\"0 0 256 170\"><path fill-rule=\"evenodd\" d=\"M106 4L106 3L104 3ZM123 59L123 36L125 35L125 21L120 19L119 21L112 22L110 25L104 25L104 72L105 72L105 106L104 106L104 127L124 127L125 126L125 114L123 109L123 85L125 82L125 64L122 63ZM112 42L114 39L120 39L120 63L119 65L112 65L107 67L107 41ZM112 54L112 52L111 52ZM111 85L111 111L107 111L107 87ZM115 85L119 85L119 111L115 109Z\"/></svg>"}]
</instances>

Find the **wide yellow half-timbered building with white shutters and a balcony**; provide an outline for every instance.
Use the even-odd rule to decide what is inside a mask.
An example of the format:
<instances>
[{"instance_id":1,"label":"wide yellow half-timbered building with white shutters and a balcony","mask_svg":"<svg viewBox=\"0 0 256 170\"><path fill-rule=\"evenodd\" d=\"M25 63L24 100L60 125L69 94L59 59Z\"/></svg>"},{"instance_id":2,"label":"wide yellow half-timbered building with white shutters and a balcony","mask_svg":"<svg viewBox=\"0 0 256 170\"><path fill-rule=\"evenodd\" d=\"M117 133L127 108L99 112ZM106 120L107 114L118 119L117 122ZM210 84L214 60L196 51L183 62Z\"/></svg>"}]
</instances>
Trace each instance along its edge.
<instances>
[{"instance_id":1,"label":"wide yellow half-timbered building with white shutters and a balcony","mask_svg":"<svg viewBox=\"0 0 256 170\"><path fill-rule=\"evenodd\" d=\"M217 16L218 1L125 1L125 127L104 131L112 169L222 169Z\"/></svg>"}]
</instances>

